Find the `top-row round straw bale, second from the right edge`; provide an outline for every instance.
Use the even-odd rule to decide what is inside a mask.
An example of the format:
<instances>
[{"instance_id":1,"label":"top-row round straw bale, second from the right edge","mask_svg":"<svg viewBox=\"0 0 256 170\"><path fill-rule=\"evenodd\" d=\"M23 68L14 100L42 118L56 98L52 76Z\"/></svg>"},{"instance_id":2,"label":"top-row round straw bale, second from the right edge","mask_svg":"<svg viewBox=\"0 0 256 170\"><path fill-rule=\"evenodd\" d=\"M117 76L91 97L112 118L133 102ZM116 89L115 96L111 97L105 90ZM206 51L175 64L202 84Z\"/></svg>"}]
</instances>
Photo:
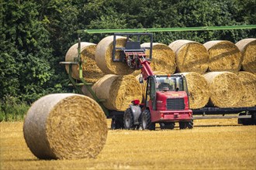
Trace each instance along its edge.
<instances>
[{"instance_id":1,"label":"top-row round straw bale, second from the right edge","mask_svg":"<svg viewBox=\"0 0 256 170\"><path fill-rule=\"evenodd\" d=\"M238 72L241 67L240 50L230 41L209 41L203 44L209 53L209 71Z\"/></svg>"}]
</instances>

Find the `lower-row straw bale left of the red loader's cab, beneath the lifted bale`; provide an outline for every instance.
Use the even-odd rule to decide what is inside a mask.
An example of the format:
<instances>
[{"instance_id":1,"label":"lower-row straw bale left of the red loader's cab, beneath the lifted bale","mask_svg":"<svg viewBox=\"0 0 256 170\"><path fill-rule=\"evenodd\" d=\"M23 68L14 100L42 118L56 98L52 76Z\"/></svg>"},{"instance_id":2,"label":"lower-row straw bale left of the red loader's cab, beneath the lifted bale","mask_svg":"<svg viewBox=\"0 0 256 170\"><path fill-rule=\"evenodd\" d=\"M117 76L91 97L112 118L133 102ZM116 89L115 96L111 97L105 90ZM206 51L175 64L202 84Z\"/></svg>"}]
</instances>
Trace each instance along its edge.
<instances>
[{"instance_id":1,"label":"lower-row straw bale left of the red loader's cab, beneath the lifted bale","mask_svg":"<svg viewBox=\"0 0 256 170\"><path fill-rule=\"evenodd\" d=\"M99 99L105 99L109 110L124 111L134 99L142 99L139 81L133 75L106 75L92 86Z\"/></svg>"}]
</instances>

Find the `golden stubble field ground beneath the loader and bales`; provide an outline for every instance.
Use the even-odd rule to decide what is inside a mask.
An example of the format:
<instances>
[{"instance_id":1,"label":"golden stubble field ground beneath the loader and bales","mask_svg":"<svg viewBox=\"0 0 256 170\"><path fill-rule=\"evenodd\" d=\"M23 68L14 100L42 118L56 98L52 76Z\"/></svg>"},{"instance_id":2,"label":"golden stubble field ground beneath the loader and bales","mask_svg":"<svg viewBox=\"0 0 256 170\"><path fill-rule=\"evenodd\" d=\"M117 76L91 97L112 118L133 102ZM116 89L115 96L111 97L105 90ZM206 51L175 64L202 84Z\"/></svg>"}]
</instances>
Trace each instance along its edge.
<instances>
[{"instance_id":1,"label":"golden stubble field ground beneath the loader and bales","mask_svg":"<svg viewBox=\"0 0 256 170\"><path fill-rule=\"evenodd\" d=\"M29 151L22 125L0 123L0 169L256 169L256 126L237 119L195 121L182 131L109 130L97 158L50 161Z\"/></svg>"}]
</instances>

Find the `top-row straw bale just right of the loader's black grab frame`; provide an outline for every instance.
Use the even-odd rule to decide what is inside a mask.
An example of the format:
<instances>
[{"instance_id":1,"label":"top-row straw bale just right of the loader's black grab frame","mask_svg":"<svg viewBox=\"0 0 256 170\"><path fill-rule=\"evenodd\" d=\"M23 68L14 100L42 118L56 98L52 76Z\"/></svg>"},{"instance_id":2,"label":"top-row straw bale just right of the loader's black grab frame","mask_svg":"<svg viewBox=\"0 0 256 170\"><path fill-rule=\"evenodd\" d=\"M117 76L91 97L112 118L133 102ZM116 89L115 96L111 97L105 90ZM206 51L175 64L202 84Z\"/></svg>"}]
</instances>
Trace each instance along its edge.
<instances>
[{"instance_id":1,"label":"top-row straw bale just right of the loader's black grab frame","mask_svg":"<svg viewBox=\"0 0 256 170\"><path fill-rule=\"evenodd\" d=\"M141 47L150 47L150 43L143 43L141 44ZM147 57L149 57L149 49L146 50L146 54ZM175 73L175 53L169 46L154 42L152 45L152 60L150 62L150 66L154 71Z\"/></svg>"}]
</instances>

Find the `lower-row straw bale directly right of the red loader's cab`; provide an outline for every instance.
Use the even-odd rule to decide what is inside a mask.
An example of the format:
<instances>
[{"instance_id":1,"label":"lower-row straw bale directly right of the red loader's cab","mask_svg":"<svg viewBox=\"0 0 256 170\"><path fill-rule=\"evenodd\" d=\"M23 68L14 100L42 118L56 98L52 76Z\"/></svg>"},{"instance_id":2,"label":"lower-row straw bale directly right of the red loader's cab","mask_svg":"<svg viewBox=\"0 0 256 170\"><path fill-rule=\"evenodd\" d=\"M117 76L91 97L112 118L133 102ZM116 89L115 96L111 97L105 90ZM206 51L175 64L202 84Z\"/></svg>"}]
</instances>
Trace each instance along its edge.
<instances>
[{"instance_id":1,"label":"lower-row straw bale directly right of the red loader's cab","mask_svg":"<svg viewBox=\"0 0 256 170\"><path fill-rule=\"evenodd\" d=\"M199 109L209 101L209 87L206 79L199 73L180 73L185 76L189 90L189 107Z\"/></svg>"}]
</instances>

